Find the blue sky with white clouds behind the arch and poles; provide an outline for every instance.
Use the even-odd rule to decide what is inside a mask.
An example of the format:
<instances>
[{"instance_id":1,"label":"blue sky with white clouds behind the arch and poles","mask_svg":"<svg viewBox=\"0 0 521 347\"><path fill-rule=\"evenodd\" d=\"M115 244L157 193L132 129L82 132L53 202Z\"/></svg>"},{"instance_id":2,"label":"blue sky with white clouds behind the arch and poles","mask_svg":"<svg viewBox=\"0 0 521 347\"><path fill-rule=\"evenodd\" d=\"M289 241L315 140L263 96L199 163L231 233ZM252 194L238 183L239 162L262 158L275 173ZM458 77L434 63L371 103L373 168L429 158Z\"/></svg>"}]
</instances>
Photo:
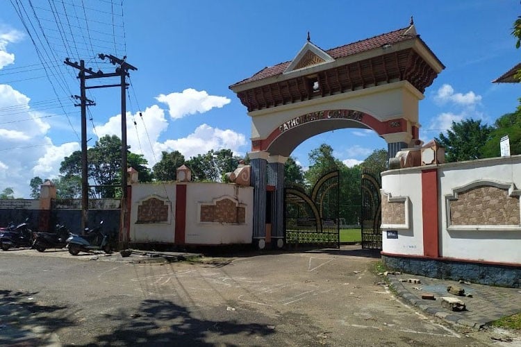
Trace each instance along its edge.
<instances>
[{"instance_id":1,"label":"blue sky with white clouds behind the arch and poles","mask_svg":"<svg viewBox=\"0 0 521 347\"><path fill-rule=\"evenodd\" d=\"M74 5L73 5L74 3ZM229 85L292 60L306 42L330 49L408 26L445 65L420 102L420 137L432 139L452 120L493 124L513 112L519 85L494 84L520 61L511 26L519 1L138 1L10 0L0 4L0 191L28 198L34 176L54 178L80 148L77 71L85 60L113 72L97 53L126 56L131 151L153 166L161 151L185 158L210 149L250 149L246 108ZM118 83L105 78L103 83ZM94 85L95 83L88 83ZM90 90L88 142L121 136L117 88ZM139 112L142 112L142 117ZM135 120L136 125L133 124ZM352 165L386 143L371 131L343 129L308 139L292 153L330 144Z\"/></svg>"}]
</instances>

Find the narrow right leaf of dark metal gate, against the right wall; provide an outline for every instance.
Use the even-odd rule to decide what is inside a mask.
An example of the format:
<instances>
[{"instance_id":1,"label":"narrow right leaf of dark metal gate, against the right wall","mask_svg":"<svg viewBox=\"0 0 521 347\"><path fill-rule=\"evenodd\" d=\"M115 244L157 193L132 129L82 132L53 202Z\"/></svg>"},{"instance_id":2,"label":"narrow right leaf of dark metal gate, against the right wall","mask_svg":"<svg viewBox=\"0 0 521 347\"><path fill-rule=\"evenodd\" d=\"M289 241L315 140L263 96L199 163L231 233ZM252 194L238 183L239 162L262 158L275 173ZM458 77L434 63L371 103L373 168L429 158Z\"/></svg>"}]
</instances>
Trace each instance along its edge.
<instances>
[{"instance_id":1,"label":"narrow right leaf of dark metal gate, against the right wall","mask_svg":"<svg viewBox=\"0 0 521 347\"><path fill-rule=\"evenodd\" d=\"M362 248L381 249L381 178L367 169L362 171Z\"/></svg>"}]
</instances>

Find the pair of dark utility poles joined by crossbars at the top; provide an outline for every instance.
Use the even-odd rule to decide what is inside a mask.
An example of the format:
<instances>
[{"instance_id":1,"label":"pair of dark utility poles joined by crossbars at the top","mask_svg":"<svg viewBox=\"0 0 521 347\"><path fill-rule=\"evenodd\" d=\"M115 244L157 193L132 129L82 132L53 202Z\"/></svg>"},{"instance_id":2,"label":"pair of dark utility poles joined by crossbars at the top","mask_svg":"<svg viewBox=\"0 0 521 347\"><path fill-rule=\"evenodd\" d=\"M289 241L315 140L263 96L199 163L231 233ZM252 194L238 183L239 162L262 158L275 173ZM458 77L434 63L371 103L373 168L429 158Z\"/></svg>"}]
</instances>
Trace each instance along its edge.
<instances>
[{"instance_id":1,"label":"pair of dark utility poles joined by crossbars at the top","mask_svg":"<svg viewBox=\"0 0 521 347\"><path fill-rule=\"evenodd\" d=\"M119 242L122 246L122 248L126 248L129 244L129 230L127 230L127 221L128 221L128 211L126 208L127 200L128 200L128 192L127 192L127 178L126 178L126 167L127 167L127 155L126 155L126 87L129 85L126 83L125 78L126 76L129 76L129 70L137 70L136 67L133 67L128 62L125 61L126 56L123 57L123 59L119 59L111 54L99 54L99 58L101 60L105 60L105 58L108 58L110 62L113 65L119 65L116 67L114 73L110 74L104 74L103 71L99 70L97 72L92 71L92 69L85 69L85 65L83 60L80 60L80 65L78 65L77 62L70 62L69 58L65 59L65 64L72 66L76 69L80 70L80 74L78 75L78 78L80 78L80 88L82 92L82 96L80 96L80 99L88 100L85 98L85 90L88 89L94 89L94 88L105 88L105 87L120 87L121 88L121 117L122 117L122 201L121 201L121 217L120 217L120 228L119 228ZM89 76L85 76L85 73L87 73ZM82 77L83 76L83 77ZM106 77L117 77L119 76L120 82L118 84L113 85L94 85L92 87L85 87L85 80L93 79L93 78L106 78ZM88 100L90 101L90 100ZM92 101L90 101L92 103ZM85 153L85 166L83 167L83 155L82 155L82 183L86 185L87 189L85 189L85 192L83 191L83 185L82 185L82 207L83 207L83 201L85 200L85 196L88 198L88 183L85 183L87 181L87 123L86 123L86 115L85 118L83 118L83 108L82 108L82 153ZM83 150L83 124L85 122L85 150ZM83 171L85 171L85 178L83 178ZM88 201L87 201L87 208L88 208ZM85 210L86 211L86 210ZM85 216L82 213L82 229L85 228L84 223L86 221L87 213L85 212ZM83 220L85 218L85 220Z\"/></svg>"}]
</instances>

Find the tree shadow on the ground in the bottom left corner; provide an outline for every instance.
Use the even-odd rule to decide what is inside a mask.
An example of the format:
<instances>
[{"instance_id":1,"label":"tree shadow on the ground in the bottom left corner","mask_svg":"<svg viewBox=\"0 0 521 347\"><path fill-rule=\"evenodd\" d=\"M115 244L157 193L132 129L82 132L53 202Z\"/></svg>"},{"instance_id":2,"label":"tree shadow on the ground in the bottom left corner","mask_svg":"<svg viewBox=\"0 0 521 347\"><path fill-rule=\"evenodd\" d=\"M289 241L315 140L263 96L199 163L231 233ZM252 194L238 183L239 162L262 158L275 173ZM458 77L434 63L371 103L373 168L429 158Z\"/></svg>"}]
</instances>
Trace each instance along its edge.
<instances>
[{"instance_id":1,"label":"tree shadow on the ground in the bottom left corner","mask_svg":"<svg viewBox=\"0 0 521 347\"><path fill-rule=\"evenodd\" d=\"M0 346L45 346L53 332L74 325L67 306L40 305L36 294L0 290Z\"/></svg>"}]
</instances>

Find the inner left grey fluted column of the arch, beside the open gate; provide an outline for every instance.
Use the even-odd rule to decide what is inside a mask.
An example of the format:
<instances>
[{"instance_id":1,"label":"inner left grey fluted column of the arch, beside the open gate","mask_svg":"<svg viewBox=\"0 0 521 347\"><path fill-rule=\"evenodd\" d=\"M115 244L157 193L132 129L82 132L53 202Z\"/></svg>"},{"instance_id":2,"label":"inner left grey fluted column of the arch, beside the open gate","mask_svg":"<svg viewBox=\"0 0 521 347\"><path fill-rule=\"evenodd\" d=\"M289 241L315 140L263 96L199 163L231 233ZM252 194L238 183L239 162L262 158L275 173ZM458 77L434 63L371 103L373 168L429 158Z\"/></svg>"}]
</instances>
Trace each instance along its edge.
<instances>
[{"instance_id":1,"label":"inner left grey fluted column of the arch, beside the open gate","mask_svg":"<svg viewBox=\"0 0 521 347\"><path fill-rule=\"evenodd\" d=\"M276 246L284 246L284 164L288 157L282 155L270 155L267 158L270 166L268 183L274 185L275 194L272 201L272 239L276 239Z\"/></svg>"}]
</instances>

